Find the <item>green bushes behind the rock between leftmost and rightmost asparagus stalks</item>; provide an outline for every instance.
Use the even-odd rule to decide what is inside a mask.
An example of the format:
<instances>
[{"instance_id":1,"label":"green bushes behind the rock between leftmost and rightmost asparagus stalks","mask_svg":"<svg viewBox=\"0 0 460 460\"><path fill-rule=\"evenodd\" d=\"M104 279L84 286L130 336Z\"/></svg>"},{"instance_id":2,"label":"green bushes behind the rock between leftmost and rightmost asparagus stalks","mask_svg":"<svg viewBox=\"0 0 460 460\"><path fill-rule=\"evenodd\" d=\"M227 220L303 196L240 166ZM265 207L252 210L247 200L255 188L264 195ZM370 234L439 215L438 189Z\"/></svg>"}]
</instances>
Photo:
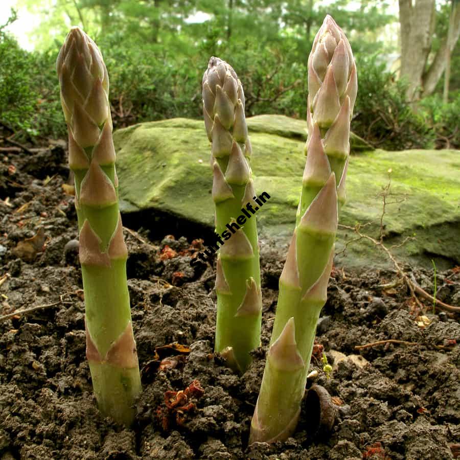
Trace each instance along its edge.
<instances>
[{"instance_id":1,"label":"green bushes behind the rock between leftmost and rightmost asparagus stalks","mask_svg":"<svg viewBox=\"0 0 460 460\"><path fill-rule=\"evenodd\" d=\"M227 60L239 75L247 116L281 113L305 118L304 65L289 62L288 52L261 44L217 45L209 33L209 40L189 55L158 43L139 48L117 33L101 36L114 126L174 117L201 119L201 79L213 55Z\"/></svg>"}]
</instances>

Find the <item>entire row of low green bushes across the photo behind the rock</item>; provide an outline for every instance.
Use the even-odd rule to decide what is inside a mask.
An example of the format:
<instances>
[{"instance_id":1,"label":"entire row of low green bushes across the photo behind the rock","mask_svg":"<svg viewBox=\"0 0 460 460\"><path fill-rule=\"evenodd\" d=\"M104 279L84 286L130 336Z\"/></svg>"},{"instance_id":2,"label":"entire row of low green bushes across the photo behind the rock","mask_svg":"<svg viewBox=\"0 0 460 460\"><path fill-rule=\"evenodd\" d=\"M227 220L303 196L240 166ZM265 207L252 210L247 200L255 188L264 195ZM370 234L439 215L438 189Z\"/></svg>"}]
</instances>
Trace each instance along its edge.
<instances>
[{"instance_id":1,"label":"entire row of low green bushes across the photo behind the rock","mask_svg":"<svg viewBox=\"0 0 460 460\"><path fill-rule=\"evenodd\" d=\"M96 38L109 72L116 128L174 117L201 119L201 78L212 55L231 63L241 78L247 116L279 113L306 118L306 62L295 62L289 41L220 42L212 28L198 49L147 42L140 47L120 32ZM23 136L66 137L57 53L57 46L47 53L28 53L0 27L0 121ZM358 56L357 66L359 88L352 122L356 134L390 150L434 144L460 147L460 96L450 104L428 98L414 113L405 101L404 82L386 72L375 56Z\"/></svg>"}]
</instances>

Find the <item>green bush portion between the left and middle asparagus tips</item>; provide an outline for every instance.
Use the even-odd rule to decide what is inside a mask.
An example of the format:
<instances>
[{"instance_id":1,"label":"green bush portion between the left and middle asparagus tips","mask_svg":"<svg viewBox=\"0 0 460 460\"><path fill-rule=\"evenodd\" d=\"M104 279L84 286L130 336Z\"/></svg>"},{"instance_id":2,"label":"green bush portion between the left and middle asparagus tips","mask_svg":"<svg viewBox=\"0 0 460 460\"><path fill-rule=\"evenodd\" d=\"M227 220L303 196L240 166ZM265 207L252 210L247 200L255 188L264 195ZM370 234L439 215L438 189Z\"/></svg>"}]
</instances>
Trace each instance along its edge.
<instances>
[{"instance_id":1,"label":"green bush portion between the left and middle asparagus tips","mask_svg":"<svg viewBox=\"0 0 460 460\"><path fill-rule=\"evenodd\" d=\"M110 103L116 127L173 117L199 118L202 69L194 56L108 34L98 40L109 72Z\"/></svg>"}]
</instances>

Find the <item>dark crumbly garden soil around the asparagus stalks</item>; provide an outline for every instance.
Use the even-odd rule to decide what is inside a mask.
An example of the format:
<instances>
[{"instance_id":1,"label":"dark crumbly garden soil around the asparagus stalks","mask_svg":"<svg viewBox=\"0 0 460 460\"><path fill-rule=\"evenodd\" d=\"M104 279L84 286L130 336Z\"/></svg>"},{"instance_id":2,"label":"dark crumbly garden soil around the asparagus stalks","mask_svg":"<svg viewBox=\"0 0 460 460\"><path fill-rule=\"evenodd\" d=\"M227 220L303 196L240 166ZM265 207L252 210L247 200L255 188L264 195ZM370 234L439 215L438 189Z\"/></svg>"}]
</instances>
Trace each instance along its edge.
<instances>
[{"instance_id":1,"label":"dark crumbly garden soil around the asparagus stalks","mask_svg":"<svg viewBox=\"0 0 460 460\"><path fill-rule=\"evenodd\" d=\"M373 269L372 263L359 274L346 265L336 267L321 313L318 352L311 361L317 375L307 385L322 385L333 397L332 429L309 435L311 416L304 407L286 443L248 447L286 248L262 242L262 346L239 376L213 353L215 266L189 265L200 244L191 244L192 239L200 235L183 225L174 238L165 227L164 238L151 241L161 222L154 229L125 228L143 393L133 429L104 419L85 359L66 152L58 144L33 155L0 155L0 315L42 306L0 320L1 460L441 460L460 455L458 315L433 313L428 304L421 311L405 288L392 286L395 271ZM136 221L125 217L125 225ZM433 292L432 272L412 273ZM460 270L438 273L436 282L436 296L458 305ZM388 339L410 343L355 349ZM331 373L323 371L320 346ZM202 395L191 390L198 385ZM189 386L192 405L181 412L167 409L165 392Z\"/></svg>"}]
</instances>

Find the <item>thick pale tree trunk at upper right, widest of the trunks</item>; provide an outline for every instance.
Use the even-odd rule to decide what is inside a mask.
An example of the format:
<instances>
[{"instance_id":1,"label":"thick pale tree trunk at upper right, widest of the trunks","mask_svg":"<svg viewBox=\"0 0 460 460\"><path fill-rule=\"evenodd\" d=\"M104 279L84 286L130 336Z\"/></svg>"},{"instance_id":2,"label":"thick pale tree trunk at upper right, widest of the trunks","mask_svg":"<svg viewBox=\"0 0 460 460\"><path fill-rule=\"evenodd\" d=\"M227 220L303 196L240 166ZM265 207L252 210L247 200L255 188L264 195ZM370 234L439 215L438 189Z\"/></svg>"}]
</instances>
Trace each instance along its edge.
<instances>
[{"instance_id":1,"label":"thick pale tree trunk at upper right, widest of the trunks","mask_svg":"<svg viewBox=\"0 0 460 460\"><path fill-rule=\"evenodd\" d=\"M435 19L434 0L399 0L401 25L401 77L409 84L406 97L418 98L422 75L431 49Z\"/></svg>"}]
</instances>

